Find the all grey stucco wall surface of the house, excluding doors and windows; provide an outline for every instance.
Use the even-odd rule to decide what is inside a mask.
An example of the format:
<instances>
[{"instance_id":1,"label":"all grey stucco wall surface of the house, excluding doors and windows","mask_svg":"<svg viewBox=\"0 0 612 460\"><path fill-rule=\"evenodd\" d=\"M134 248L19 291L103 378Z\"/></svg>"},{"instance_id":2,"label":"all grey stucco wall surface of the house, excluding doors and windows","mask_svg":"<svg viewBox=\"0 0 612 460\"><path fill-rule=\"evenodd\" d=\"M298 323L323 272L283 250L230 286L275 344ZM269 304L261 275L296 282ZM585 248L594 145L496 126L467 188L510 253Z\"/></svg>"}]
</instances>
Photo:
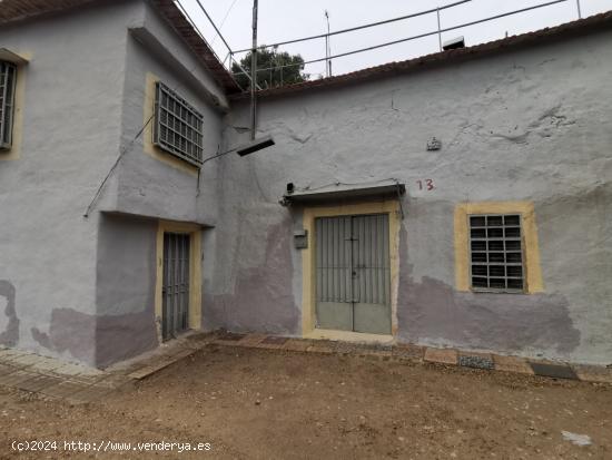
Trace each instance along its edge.
<instances>
[{"instance_id":1,"label":"all grey stucco wall surface of the house, excluding doors and windows","mask_svg":"<svg viewBox=\"0 0 612 460\"><path fill-rule=\"evenodd\" d=\"M277 146L207 163L198 178L142 151L147 74L203 111L205 156L247 140L248 107L226 114L220 88L147 3L4 26L0 45L31 61L21 157L0 162L0 344L97 365L155 346L158 219L206 228L204 329L298 335L302 211L278 204L286 183L393 177L408 188L398 340L609 363L611 41L593 32L267 98L259 131ZM433 136L442 150L425 150ZM435 188L419 189L425 179ZM544 293L455 290L455 205L485 200L535 204Z\"/></svg>"}]
</instances>

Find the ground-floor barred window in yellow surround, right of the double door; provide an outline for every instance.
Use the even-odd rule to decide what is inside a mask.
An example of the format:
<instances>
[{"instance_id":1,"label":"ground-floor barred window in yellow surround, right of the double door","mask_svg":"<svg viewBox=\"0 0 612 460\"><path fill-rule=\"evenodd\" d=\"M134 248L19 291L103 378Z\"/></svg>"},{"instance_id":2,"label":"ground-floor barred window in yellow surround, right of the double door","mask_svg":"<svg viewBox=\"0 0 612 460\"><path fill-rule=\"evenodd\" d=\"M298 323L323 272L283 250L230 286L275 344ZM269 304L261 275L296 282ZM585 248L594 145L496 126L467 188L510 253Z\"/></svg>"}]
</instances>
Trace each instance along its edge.
<instances>
[{"instance_id":1,"label":"ground-floor barred window in yellow surround, right of the double door","mask_svg":"<svg viewBox=\"0 0 612 460\"><path fill-rule=\"evenodd\" d=\"M474 291L523 292L521 216L470 216L470 277Z\"/></svg>"}]
</instances>

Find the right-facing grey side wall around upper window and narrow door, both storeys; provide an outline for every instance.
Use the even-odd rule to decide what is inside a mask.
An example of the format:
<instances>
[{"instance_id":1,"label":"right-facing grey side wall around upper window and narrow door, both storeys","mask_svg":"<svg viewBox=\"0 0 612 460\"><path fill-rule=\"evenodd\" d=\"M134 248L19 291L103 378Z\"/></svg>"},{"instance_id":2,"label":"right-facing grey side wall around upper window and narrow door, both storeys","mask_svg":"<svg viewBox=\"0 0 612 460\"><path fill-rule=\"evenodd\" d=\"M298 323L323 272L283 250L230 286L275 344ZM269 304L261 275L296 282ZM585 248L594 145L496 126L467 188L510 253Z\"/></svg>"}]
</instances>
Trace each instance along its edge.
<instances>
[{"instance_id":1,"label":"right-facing grey side wall around upper window and narrow door, both storeys","mask_svg":"<svg viewBox=\"0 0 612 460\"><path fill-rule=\"evenodd\" d=\"M207 163L199 176L189 174L146 154L145 141L150 139L139 133L144 126L147 75L159 78L203 114L205 157L220 148L224 116L220 107L227 106L227 101L206 68L150 6L142 3L141 16L126 33L121 114L121 145L126 153L100 204L108 215L100 227L97 257L96 362L100 366L158 344L155 324L158 219L197 223L207 228L203 241L206 268L200 280L205 291L215 266L210 245L218 206L216 163ZM121 276L117 277L117 273ZM128 291L118 290L117 283L129 286Z\"/></svg>"}]
</instances>

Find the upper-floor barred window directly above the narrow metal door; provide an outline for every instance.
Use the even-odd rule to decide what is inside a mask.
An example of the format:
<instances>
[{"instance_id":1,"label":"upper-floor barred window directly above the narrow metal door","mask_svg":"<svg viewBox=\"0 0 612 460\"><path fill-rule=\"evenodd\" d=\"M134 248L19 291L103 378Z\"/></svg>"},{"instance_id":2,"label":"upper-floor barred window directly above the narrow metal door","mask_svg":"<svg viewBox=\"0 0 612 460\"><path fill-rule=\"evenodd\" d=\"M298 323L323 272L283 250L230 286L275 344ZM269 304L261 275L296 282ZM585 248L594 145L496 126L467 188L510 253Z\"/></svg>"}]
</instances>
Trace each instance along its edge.
<instances>
[{"instance_id":1,"label":"upper-floor barred window directly above the narrow metal door","mask_svg":"<svg viewBox=\"0 0 612 460\"><path fill-rule=\"evenodd\" d=\"M204 117L162 82L156 84L154 144L199 167L204 148Z\"/></svg>"}]
</instances>

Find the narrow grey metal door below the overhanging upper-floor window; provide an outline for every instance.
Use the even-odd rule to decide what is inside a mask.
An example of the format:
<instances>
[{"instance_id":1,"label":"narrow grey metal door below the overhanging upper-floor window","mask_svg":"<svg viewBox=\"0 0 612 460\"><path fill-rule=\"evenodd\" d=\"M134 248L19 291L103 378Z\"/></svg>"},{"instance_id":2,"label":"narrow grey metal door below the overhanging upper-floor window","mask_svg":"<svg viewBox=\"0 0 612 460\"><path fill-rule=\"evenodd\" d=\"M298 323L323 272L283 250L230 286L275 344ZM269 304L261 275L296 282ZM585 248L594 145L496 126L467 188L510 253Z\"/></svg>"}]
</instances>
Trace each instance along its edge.
<instances>
[{"instance_id":1,"label":"narrow grey metal door below the overhanging upper-floor window","mask_svg":"<svg viewBox=\"0 0 612 460\"><path fill-rule=\"evenodd\" d=\"M164 234L164 283L161 286L161 336L175 337L189 326L190 236Z\"/></svg>"}]
</instances>

